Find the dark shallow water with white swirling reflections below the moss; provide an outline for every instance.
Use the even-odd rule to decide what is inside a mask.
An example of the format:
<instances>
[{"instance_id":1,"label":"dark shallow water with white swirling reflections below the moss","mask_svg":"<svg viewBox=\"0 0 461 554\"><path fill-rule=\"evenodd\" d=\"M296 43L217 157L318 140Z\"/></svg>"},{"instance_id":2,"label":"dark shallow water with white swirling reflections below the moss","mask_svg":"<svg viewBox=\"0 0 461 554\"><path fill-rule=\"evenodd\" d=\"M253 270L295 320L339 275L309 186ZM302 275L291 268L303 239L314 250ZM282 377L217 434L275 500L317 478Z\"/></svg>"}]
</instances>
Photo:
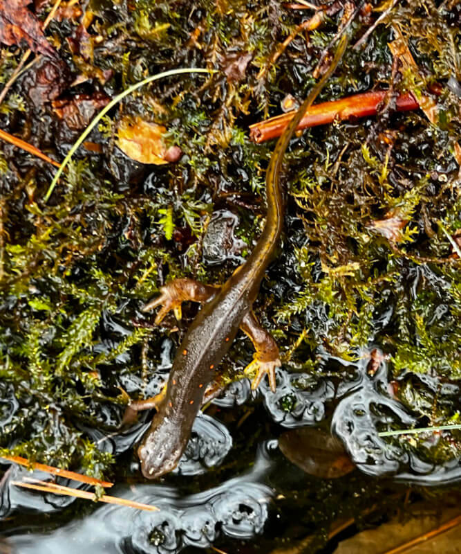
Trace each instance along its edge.
<instances>
[{"instance_id":1,"label":"dark shallow water with white swirling reflections below the moss","mask_svg":"<svg viewBox=\"0 0 461 554\"><path fill-rule=\"evenodd\" d=\"M172 354L167 341L162 352L160 365L167 371ZM346 368L348 377L339 382L335 377L316 381L312 375L278 370L275 394L266 383L252 392L246 379L229 386L214 400L209 410L213 415L198 415L180 465L167 476L165 484L140 483L133 461L131 474L117 479L109 492L157 506L159 512L91 505L26 491L12 481L27 479L30 474L11 466L1 485L3 535L8 537L12 552L20 554L57 554L64 548L71 554L80 554L82 548L94 554L163 554L192 552L211 545L225 546L227 552L229 548L235 552L270 552L277 544L290 544L302 535L321 536L339 517L355 517L373 502L385 515L387 498L408 494L409 483L439 488L451 485L445 490L452 490L461 480L459 458L437 465L424 453L418 455L409 449L405 441L378 436L378 431L388 425L409 426L415 418L393 394L384 357L377 356L375 350L372 358L370 352L359 352L355 362L324 359L323 363L332 369ZM371 359L375 360L373 364ZM157 388L156 383L151 388ZM451 385L446 393L459 397L459 387ZM4 406L3 417L8 418L14 406L8 402ZM261 440L257 447L245 449L245 441L238 436L241 426L230 425L229 430L224 422L232 411L251 420L252 410L258 417L248 424L245 434L259 434ZM111 414L107 413L106 418L110 420ZM265 420L265 429L261 420ZM82 431L105 452L126 456L147 425L141 421L118 434L85 427ZM284 458L276 437L283 429L306 425L330 429L341 440L356 466L352 474L319 479L304 474ZM240 457L243 467L250 470L234 474L235 460ZM32 476L47 479L39 472ZM420 494L426 494L424 488L417 488ZM319 539L319 548L321 544ZM329 543L329 551L334 546Z\"/></svg>"}]
</instances>

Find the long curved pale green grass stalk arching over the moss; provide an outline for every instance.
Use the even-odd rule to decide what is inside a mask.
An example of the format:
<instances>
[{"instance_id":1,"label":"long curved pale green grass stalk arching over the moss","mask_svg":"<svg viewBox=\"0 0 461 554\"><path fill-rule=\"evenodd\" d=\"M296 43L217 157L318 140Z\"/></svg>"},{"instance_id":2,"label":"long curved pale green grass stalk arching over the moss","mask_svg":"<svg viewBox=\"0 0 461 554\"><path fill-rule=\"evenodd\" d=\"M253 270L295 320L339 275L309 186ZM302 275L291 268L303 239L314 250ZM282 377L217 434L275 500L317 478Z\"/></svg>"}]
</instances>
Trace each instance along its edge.
<instances>
[{"instance_id":1,"label":"long curved pale green grass stalk arching over the moss","mask_svg":"<svg viewBox=\"0 0 461 554\"><path fill-rule=\"evenodd\" d=\"M169 71L162 71L162 73L156 73L156 75L151 75L151 77L147 77L146 79L140 82L137 82L136 84L132 84L131 87L129 87L128 89L124 90L123 92L115 96L115 98L113 98L113 100L111 100L111 102L109 102L109 104L106 105L106 107L104 107L100 111L100 113L97 114L97 116L95 116L95 118L93 118L93 120L88 125L88 127L86 127L84 132L82 132L82 134L79 136L77 141L75 141L73 147L70 148L61 166L59 166L56 172L56 175L53 178L53 181L51 181L51 184L44 197L44 202L48 202L48 199L50 198L51 194L53 193L53 190L55 189L55 186L57 185L57 181L59 180L59 177L61 177L61 174L64 171L64 168L67 166L67 164L69 163L70 159L73 157L73 155L75 154L79 146L82 145L83 141L86 139L88 134L90 134L91 131L93 131L97 123L100 122L100 120L107 114L109 110L111 110L115 106L115 104L120 102L120 100L123 100L126 96L128 96L132 92L140 89L141 87L144 87L144 84L148 84L149 82L156 81L164 77L171 77L171 75L181 75L182 73L214 73L214 70L204 69L200 67L198 68L184 67L182 69L170 69Z\"/></svg>"}]
</instances>

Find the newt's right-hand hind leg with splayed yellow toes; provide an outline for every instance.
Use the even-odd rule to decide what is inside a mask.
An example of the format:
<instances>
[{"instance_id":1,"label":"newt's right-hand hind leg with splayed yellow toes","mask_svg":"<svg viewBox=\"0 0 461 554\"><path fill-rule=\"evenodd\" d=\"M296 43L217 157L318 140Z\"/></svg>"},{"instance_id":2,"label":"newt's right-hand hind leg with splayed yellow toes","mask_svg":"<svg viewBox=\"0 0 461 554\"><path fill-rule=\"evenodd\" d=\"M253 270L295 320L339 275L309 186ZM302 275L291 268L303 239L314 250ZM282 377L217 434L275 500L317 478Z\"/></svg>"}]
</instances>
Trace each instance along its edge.
<instances>
[{"instance_id":1,"label":"newt's right-hand hind leg with splayed yellow toes","mask_svg":"<svg viewBox=\"0 0 461 554\"><path fill-rule=\"evenodd\" d=\"M281 366L279 347L270 332L266 331L258 323L252 312L247 314L241 323L241 330L250 337L256 352L253 361L245 368L245 373L253 373L257 370L256 377L252 381L252 389L258 388L267 373L270 390L275 392L275 368Z\"/></svg>"}]
</instances>

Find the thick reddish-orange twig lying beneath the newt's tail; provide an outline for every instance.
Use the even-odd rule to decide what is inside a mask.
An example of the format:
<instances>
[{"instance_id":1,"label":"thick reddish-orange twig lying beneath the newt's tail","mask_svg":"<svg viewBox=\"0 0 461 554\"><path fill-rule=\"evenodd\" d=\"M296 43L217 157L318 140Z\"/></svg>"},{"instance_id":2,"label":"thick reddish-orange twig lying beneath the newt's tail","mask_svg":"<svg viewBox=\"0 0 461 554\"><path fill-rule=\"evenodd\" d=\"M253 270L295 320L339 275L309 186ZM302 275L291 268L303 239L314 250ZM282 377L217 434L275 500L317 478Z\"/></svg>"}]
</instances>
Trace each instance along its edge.
<instances>
[{"instance_id":1,"label":"thick reddish-orange twig lying beneath the newt's tail","mask_svg":"<svg viewBox=\"0 0 461 554\"><path fill-rule=\"evenodd\" d=\"M374 116L377 114L379 103L384 100L387 93L388 91L365 92L331 102L321 102L305 112L297 129L326 125L335 119ZM408 111L420 107L411 93L397 96L395 106L397 111ZM289 111L288 114L281 114L250 125L250 139L256 143L262 143L280 136L295 113L296 110Z\"/></svg>"}]
</instances>

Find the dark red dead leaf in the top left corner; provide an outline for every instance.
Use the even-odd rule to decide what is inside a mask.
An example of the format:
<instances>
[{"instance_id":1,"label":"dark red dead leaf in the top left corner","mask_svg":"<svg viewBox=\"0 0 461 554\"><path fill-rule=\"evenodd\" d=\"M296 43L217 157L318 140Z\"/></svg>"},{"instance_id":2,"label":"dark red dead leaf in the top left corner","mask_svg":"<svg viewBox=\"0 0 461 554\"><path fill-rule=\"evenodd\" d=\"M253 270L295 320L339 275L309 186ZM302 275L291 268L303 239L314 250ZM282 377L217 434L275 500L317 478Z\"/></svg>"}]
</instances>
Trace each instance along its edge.
<instances>
[{"instance_id":1,"label":"dark red dead leaf in the top left corner","mask_svg":"<svg viewBox=\"0 0 461 554\"><path fill-rule=\"evenodd\" d=\"M27 9L29 0L0 0L0 42L8 46L26 42L30 50L57 59L55 49L46 40L41 23Z\"/></svg>"}]
</instances>

